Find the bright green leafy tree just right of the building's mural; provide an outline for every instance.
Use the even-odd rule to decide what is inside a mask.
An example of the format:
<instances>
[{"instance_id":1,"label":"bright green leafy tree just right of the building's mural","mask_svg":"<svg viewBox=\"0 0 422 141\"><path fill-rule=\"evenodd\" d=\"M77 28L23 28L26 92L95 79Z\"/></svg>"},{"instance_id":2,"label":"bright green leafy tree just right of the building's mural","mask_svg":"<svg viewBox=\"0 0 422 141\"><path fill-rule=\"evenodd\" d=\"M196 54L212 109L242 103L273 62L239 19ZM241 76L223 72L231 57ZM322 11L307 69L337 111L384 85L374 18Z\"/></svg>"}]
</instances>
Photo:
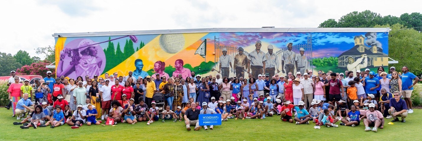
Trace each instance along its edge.
<instances>
[{"instance_id":1,"label":"bright green leafy tree just right of the building's mural","mask_svg":"<svg viewBox=\"0 0 422 141\"><path fill-rule=\"evenodd\" d=\"M398 61L398 64L390 64L397 71L407 66L409 71L417 76L422 74L422 33L414 29L406 29L402 24L376 25L374 27L390 27L388 39L388 56ZM403 30L400 30L403 29Z\"/></svg>"}]
</instances>

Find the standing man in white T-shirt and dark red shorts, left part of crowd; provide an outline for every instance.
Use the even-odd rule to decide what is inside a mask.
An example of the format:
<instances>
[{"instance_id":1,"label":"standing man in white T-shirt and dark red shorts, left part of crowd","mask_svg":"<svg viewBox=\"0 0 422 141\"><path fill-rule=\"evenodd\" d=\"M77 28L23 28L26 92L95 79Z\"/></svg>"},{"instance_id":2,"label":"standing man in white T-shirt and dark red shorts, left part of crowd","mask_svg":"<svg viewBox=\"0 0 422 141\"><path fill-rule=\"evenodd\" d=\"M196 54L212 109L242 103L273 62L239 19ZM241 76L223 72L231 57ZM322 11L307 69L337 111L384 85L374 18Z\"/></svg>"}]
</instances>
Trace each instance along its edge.
<instances>
[{"instance_id":1,"label":"standing man in white T-shirt and dark red shorts, left part of crowd","mask_svg":"<svg viewBox=\"0 0 422 141\"><path fill-rule=\"evenodd\" d=\"M100 96L101 96L101 111L103 112L103 116L101 116L101 120L104 120L104 117L108 117L107 111L111 107L111 86L108 86L110 83L110 79L105 79L106 82L103 87L100 88Z\"/></svg>"}]
</instances>

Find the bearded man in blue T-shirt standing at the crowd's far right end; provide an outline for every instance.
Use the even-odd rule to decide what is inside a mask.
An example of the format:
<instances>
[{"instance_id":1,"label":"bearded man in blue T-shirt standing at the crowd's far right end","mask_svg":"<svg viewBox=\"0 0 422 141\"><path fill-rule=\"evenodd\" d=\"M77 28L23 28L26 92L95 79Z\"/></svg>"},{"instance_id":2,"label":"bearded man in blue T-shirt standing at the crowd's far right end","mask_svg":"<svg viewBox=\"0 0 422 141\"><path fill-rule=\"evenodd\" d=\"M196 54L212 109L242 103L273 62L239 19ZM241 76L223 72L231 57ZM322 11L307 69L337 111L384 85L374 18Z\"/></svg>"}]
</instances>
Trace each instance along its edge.
<instances>
[{"instance_id":1,"label":"bearded man in blue T-shirt standing at the crowd's far right end","mask_svg":"<svg viewBox=\"0 0 422 141\"><path fill-rule=\"evenodd\" d=\"M412 109L412 100L410 99L410 96L412 95L412 91L413 91L413 86L418 83L419 78L416 77L413 73L409 72L409 69L407 68L407 66L403 66L403 68L401 68L401 71L403 72L403 74L401 75L401 92L403 95L404 100L406 101L406 105L408 108L408 113L412 114L413 113L413 109ZM413 81L413 79L415 79L415 81ZM413 83L412 83L413 81Z\"/></svg>"}]
</instances>

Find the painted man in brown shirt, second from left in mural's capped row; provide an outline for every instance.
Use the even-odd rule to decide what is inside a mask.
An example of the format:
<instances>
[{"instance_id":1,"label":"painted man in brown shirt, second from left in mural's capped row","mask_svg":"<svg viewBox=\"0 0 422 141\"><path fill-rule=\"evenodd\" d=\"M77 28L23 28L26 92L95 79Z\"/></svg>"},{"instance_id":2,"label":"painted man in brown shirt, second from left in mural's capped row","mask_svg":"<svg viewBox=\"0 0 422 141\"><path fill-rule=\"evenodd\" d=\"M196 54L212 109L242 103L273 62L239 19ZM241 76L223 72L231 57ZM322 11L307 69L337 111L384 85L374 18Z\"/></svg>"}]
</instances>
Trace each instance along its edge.
<instances>
[{"instance_id":1,"label":"painted man in brown shirt, second from left in mural's capped row","mask_svg":"<svg viewBox=\"0 0 422 141\"><path fill-rule=\"evenodd\" d=\"M234 71L235 71L235 75L236 77L240 78L240 77L244 77L244 71L246 69L249 69L249 65L248 65L248 57L243 54L243 48L239 47L238 49L239 54L235 55L235 60L234 60Z\"/></svg>"}]
</instances>

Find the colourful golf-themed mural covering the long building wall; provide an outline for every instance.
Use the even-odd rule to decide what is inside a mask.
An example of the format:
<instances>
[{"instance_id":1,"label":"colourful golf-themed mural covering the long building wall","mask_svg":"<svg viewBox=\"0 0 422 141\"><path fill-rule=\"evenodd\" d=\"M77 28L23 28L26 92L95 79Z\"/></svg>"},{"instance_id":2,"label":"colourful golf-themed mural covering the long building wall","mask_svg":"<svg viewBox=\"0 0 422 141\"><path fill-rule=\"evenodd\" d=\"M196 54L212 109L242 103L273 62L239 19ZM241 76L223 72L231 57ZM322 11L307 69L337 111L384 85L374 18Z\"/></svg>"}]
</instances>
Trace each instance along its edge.
<instances>
[{"instance_id":1,"label":"colourful golf-themed mural covering the long building wall","mask_svg":"<svg viewBox=\"0 0 422 141\"><path fill-rule=\"evenodd\" d=\"M57 76L186 78L388 67L388 33L183 33L56 38Z\"/></svg>"}]
</instances>

